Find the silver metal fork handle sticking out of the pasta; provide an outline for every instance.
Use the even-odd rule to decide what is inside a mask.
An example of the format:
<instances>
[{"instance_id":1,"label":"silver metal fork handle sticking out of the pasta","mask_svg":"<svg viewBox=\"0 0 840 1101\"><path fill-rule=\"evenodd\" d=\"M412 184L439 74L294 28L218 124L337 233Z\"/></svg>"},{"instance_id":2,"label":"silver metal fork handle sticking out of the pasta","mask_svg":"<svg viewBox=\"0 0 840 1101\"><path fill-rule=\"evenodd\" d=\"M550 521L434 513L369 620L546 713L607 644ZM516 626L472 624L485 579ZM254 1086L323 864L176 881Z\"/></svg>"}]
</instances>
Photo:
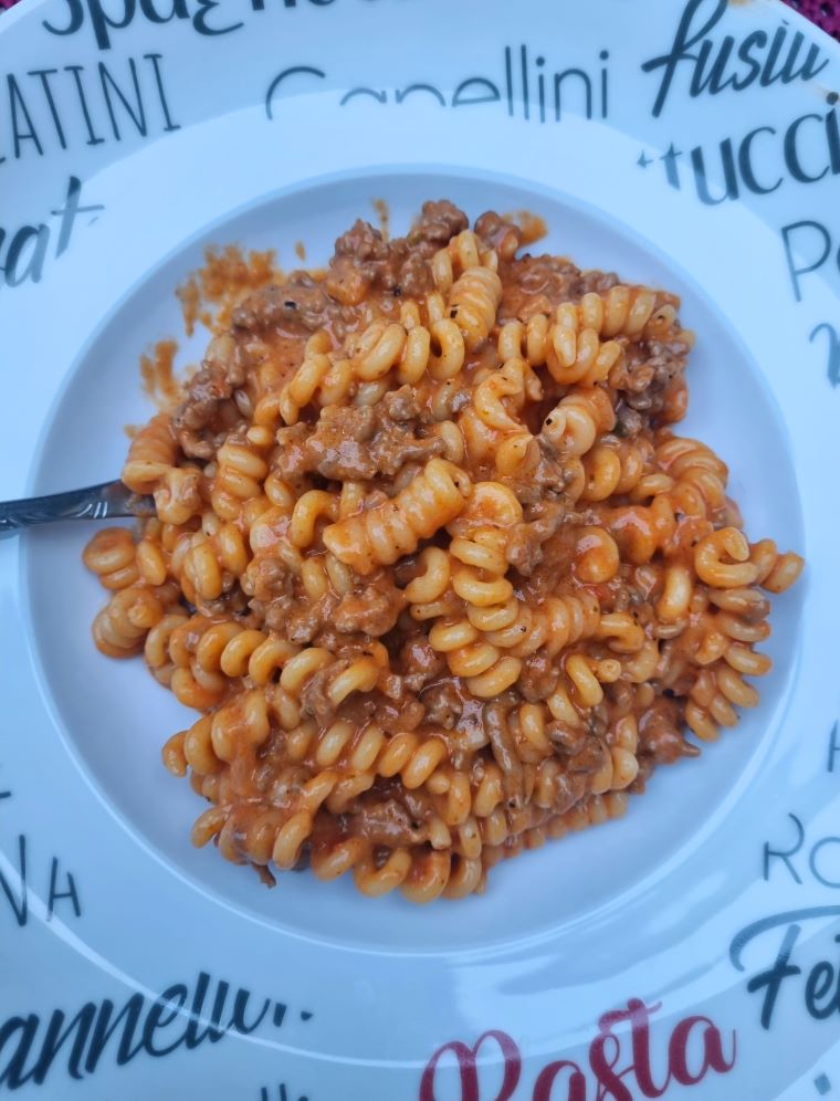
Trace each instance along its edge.
<instances>
[{"instance_id":1,"label":"silver metal fork handle sticking out of the pasta","mask_svg":"<svg viewBox=\"0 0 840 1101\"><path fill-rule=\"evenodd\" d=\"M0 539L27 527L62 520L111 520L116 516L154 516L151 497L132 493L120 481L88 485L86 490L52 493L45 497L0 502Z\"/></svg>"}]
</instances>

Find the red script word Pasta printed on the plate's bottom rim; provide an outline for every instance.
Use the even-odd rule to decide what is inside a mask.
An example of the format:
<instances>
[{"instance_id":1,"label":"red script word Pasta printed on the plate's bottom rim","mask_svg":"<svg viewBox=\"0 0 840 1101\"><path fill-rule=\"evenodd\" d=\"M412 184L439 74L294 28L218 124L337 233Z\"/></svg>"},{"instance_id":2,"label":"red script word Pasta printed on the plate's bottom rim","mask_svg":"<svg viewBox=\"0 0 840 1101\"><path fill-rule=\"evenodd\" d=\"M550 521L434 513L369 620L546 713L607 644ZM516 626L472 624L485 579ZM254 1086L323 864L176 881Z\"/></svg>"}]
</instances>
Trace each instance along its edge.
<instances>
[{"instance_id":1,"label":"red script word Pasta printed on the plate's bottom rim","mask_svg":"<svg viewBox=\"0 0 840 1101\"><path fill-rule=\"evenodd\" d=\"M696 1086L711 1071L726 1074L733 1069L737 1056L735 1031L724 1041L715 1024L702 1016L685 1017L674 1026L665 1066L655 1069L650 1026L651 1016L661 1008L659 1003L647 1006L639 998L631 998L627 1009L603 1014L598 1021L598 1035L589 1045L588 1071L570 1059L548 1063L534 1082L532 1101L661 1098L672 1084ZM629 1035L627 1029L621 1029L628 1025ZM491 1040L504 1060L502 1086L494 1098L482 1097L477 1071L479 1053ZM423 1071L419 1101L435 1101L435 1077L445 1056L453 1056L458 1063L461 1101L510 1101L513 1098L522 1078L522 1056L506 1032L492 1030L480 1036L473 1047L452 1040L439 1048Z\"/></svg>"}]
</instances>

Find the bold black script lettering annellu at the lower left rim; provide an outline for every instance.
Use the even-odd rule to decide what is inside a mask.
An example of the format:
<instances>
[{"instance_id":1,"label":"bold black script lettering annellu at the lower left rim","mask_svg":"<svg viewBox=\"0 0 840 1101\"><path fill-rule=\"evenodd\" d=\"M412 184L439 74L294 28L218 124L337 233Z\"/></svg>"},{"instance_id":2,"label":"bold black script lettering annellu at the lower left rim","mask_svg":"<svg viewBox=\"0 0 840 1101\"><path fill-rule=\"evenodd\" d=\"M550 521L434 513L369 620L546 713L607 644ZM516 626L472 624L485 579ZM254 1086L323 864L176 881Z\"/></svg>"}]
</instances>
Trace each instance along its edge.
<instances>
[{"instance_id":1,"label":"bold black script lettering annellu at the lower left rim","mask_svg":"<svg viewBox=\"0 0 840 1101\"><path fill-rule=\"evenodd\" d=\"M250 1036L263 1023L282 1026L282 1003L270 1014L270 998L254 1006L251 992L240 987L229 1005L230 993L229 983L201 972L195 988L175 983L153 1002L133 994L119 1008L105 998L86 1002L73 1016L53 1009L46 1020L34 1013L9 1017L0 1024L0 1086L41 1086L60 1061L71 1078L82 1079L106 1056L124 1067L139 1055L161 1059L179 1048L218 1044L229 1032Z\"/></svg>"}]
</instances>

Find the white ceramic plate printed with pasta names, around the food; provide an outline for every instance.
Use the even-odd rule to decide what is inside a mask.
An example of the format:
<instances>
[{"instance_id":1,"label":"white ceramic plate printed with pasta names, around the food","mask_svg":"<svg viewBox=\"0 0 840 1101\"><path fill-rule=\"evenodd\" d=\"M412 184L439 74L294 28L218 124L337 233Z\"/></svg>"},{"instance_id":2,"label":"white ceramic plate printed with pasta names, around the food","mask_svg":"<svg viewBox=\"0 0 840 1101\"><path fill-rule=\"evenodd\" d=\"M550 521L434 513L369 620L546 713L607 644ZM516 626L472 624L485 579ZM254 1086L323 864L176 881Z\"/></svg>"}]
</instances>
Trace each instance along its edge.
<instances>
[{"instance_id":1,"label":"white ceramic plate printed with pasta names, around the food","mask_svg":"<svg viewBox=\"0 0 840 1101\"><path fill-rule=\"evenodd\" d=\"M413 909L192 849L90 531L0 544L0 1094L840 1097L837 45L776 0L29 0L0 62L0 499L117 473L207 244L318 264L445 196L683 296L686 429L808 559L737 731Z\"/></svg>"}]
</instances>

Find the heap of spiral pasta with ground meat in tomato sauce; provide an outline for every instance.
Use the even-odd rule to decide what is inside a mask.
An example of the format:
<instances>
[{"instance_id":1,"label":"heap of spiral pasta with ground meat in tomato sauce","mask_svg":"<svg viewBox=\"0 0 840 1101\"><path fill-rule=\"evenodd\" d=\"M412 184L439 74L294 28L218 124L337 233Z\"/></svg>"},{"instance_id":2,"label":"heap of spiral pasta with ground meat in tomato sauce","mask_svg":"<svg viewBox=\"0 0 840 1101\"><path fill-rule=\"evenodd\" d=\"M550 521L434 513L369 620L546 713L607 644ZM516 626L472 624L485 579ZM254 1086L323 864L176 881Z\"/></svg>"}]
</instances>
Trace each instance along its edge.
<instances>
[{"instance_id":1,"label":"heap of spiral pasta with ground meat in tomato sauce","mask_svg":"<svg viewBox=\"0 0 840 1101\"><path fill-rule=\"evenodd\" d=\"M264 880L483 891L759 702L804 563L674 433L679 300L519 241L431 202L258 290L129 448L155 516L84 552L98 649L197 713L192 841Z\"/></svg>"}]
</instances>

